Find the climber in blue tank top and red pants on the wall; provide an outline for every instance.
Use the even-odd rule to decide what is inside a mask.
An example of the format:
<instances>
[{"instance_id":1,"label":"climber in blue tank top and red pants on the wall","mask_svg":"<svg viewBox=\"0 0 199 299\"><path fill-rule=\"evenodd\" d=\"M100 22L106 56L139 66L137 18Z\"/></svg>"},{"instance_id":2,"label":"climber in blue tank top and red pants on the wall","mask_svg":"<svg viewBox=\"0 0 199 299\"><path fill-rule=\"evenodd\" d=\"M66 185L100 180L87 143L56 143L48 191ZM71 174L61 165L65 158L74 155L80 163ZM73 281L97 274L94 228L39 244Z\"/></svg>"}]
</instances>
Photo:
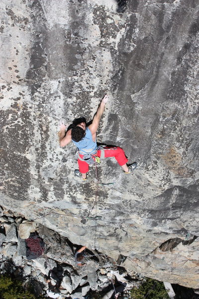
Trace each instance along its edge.
<instances>
[{"instance_id":1,"label":"climber in blue tank top and red pants on the wall","mask_svg":"<svg viewBox=\"0 0 199 299\"><path fill-rule=\"evenodd\" d=\"M108 101L108 96L104 95L100 102L100 106L93 118L91 125L87 126L86 119L80 119L79 122L74 122L72 128L66 132L64 122L60 122L59 142L61 147L67 146L71 141L78 148L78 165L79 169L75 169L75 175L82 180L87 180L89 164L95 163L100 157L115 157L119 165L122 167L125 174L131 173L137 166L136 162L127 165L128 159L125 156L124 150L119 147L98 147L96 133L100 123L100 117Z\"/></svg>"}]
</instances>

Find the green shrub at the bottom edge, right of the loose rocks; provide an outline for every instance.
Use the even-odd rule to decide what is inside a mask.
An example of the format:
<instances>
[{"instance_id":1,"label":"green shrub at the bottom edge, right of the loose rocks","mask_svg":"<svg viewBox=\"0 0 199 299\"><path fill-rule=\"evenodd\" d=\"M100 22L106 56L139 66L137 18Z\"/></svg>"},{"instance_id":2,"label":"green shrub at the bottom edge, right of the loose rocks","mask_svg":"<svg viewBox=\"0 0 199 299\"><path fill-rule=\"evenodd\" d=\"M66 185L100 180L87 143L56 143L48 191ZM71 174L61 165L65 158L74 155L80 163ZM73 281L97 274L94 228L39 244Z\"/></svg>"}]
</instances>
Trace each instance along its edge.
<instances>
[{"instance_id":1,"label":"green shrub at the bottom edge, right of the loose rocks","mask_svg":"<svg viewBox=\"0 0 199 299\"><path fill-rule=\"evenodd\" d=\"M169 299L162 282L147 278L139 288L130 291L131 299Z\"/></svg>"}]
</instances>

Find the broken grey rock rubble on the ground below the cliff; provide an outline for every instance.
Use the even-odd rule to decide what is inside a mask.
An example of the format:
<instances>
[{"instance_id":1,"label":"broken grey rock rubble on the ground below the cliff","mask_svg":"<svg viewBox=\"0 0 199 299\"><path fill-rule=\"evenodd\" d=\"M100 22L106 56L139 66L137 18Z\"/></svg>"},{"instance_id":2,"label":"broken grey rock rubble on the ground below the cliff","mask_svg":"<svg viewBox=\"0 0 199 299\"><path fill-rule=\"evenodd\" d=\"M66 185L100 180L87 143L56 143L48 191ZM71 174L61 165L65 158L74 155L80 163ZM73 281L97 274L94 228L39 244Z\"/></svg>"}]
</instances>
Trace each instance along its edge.
<instances>
[{"instance_id":1,"label":"broken grey rock rubble on the ground below the cliff","mask_svg":"<svg viewBox=\"0 0 199 299\"><path fill-rule=\"evenodd\" d=\"M105 296L103 290L113 292L115 278L127 283L124 296L128 298L128 291L138 287L143 280L141 275L117 266L116 261L97 250L87 249L86 265L78 267L74 260L78 245L41 224L30 224L11 211L0 209L0 212L0 273L7 272L7 269L10 273L20 272L24 285L33 284L38 294L46 294L48 284L45 276L57 265L64 270L60 286L62 299L83 298L88 293ZM34 260L26 257L25 238L31 232L39 235L45 243L43 254ZM23 234L24 239L20 237Z\"/></svg>"}]
</instances>

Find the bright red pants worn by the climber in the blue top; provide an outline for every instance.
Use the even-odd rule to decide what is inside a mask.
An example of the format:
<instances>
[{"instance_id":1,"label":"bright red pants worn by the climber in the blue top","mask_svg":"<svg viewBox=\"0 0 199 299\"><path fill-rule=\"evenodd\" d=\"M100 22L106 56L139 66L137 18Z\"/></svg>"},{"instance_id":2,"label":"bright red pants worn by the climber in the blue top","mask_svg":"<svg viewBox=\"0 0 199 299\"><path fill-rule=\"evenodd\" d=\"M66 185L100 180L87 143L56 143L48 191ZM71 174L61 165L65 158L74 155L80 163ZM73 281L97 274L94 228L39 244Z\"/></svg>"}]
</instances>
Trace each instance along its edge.
<instances>
[{"instance_id":1,"label":"bright red pants worn by the climber in the blue top","mask_svg":"<svg viewBox=\"0 0 199 299\"><path fill-rule=\"evenodd\" d=\"M100 157L101 151L104 150L104 157L115 157L120 166L124 165L128 162L128 159L125 156L124 150L119 147L105 147L103 149L99 149L96 156ZM83 154L80 154L80 157L83 158ZM89 171L89 164L85 161L81 161L78 159L79 170L81 173L86 173Z\"/></svg>"}]
</instances>

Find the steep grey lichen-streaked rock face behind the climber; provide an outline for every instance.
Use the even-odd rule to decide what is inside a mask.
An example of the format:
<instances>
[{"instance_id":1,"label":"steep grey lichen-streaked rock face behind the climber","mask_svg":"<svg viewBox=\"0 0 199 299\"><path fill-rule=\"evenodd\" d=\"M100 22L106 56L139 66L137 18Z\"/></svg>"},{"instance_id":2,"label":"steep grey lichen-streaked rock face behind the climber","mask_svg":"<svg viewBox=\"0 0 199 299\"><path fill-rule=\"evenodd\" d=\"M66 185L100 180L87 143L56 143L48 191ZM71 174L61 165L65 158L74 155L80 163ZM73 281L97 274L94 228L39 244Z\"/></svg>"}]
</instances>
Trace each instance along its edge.
<instances>
[{"instance_id":1,"label":"steep grey lichen-streaked rock face behind the climber","mask_svg":"<svg viewBox=\"0 0 199 299\"><path fill-rule=\"evenodd\" d=\"M199 3L196 0L5 0L1 4L0 203L117 260L199 287ZM74 178L58 123L91 120L114 158ZM9 216L9 215L8 215Z\"/></svg>"}]
</instances>

